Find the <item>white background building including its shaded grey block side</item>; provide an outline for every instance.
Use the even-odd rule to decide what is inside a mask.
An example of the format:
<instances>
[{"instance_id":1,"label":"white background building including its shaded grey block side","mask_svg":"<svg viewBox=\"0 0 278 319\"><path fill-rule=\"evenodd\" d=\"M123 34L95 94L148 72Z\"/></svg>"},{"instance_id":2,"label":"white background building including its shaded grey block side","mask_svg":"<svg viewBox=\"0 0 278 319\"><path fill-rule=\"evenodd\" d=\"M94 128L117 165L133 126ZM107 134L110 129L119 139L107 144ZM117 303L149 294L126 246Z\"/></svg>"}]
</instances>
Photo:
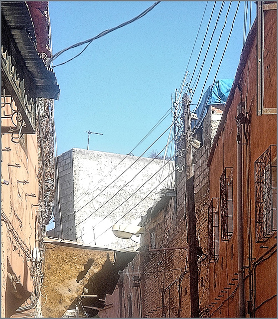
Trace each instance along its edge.
<instances>
[{"instance_id":1,"label":"white background building including its shaded grey block side","mask_svg":"<svg viewBox=\"0 0 278 319\"><path fill-rule=\"evenodd\" d=\"M55 229L49 236L106 247L139 247L117 238L114 224L137 225L171 183L173 162L72 149L57 157ZM62 220L62 232L61 232Z\"/></svg>"}]
</instances>

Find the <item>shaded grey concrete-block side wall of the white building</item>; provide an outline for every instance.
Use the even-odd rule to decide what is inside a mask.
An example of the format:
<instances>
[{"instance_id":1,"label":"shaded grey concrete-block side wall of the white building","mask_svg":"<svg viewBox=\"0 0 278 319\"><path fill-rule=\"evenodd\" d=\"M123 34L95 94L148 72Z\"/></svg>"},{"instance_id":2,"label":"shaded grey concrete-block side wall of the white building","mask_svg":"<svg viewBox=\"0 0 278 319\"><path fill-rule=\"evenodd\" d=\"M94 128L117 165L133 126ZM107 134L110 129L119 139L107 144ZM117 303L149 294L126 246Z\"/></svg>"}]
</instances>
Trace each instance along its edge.
<instances>
[{"instance_id":1,"label":"shaded grey concrete-block side wall of the white building","mask_svg":"<svg viewBox=\"0 0 278 319\"><path fill-rule=\"evenodd\" d=\"M60 226L62 217L63 239L75 240L72 150L63 153L56 158L55 165L57 165L57 167L55 169L56 191L54 199L54 234L55 237L61 238L62 236Z\"/></svg>"}]
</instances>

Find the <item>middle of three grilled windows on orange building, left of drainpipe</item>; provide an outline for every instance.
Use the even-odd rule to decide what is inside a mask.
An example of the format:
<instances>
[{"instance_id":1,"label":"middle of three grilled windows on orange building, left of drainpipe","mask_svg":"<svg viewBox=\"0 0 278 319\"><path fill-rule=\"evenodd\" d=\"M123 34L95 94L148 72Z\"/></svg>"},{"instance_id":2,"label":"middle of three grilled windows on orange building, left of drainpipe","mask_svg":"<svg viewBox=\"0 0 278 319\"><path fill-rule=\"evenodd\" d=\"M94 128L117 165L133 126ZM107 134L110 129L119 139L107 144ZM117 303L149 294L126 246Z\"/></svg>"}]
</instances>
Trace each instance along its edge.
<instances>
[{"instance_id":1,"label":"middle of three grilled windows on orange building, left of drainpipe","mask_svg":"<svg viewBox=\"0 0 278 319\"><path fill-rule=\"evenodd\" d=\"M233 235L233 168L225 167L220 177L221 239L229 240Z\"/></svg>"}]
</instances>

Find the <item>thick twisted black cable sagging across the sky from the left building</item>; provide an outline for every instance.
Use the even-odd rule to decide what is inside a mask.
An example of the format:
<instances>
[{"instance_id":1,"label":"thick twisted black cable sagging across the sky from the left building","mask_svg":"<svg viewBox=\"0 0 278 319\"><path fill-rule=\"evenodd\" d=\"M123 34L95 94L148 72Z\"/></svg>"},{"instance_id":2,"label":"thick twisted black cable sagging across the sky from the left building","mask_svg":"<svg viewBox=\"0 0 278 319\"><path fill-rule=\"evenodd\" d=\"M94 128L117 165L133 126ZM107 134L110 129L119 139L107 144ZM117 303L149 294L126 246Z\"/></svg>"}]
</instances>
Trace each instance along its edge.
<instances>
[{"instance_id":1,"label":"thick twisted black cable sagging across the sky from the left building","mask_svg":"<svg viewBox=\"0 0 278 319\"><path fill-rule=\"evenodd\" d=\"M138 20L139 18L141 18L141 17L143 17L145 14L147 14L150 10L152 10L159 2L161 2L161 1L156 1L156 2L153 3L149 8L147 8L146 10L144 10L144 11L141 12L139 15L137 15L136 17L134 17L133 19L131 19L131 20L129 20L129 21L126 21L126 22L124 22L124 23L121 23L121 24L119 24L118 26L115 26L114 28L111 28L111 29L102 31L101 33L99 33L97 36L94 36L93 38L90 38L90 39L85 40L85 41L82 41L82 42L75 43L75 44L73 44L73 45L71 45L71 46L69 46L69 47L67 47L67 48L65 48L65 49L63 49L63 50L61 50L61 51L55 53L50 59L47 60L46 66L49 67L50 64L51 64L58 56L60 56L62 53L66 52L67 50L70 50L70 49L76 48L76 47L78 47L78 46L80 46L80 45L83 45L83 44L85 44L85 43L88 43L88 44L85 46L85 48L84 48L80 53L78 53L77 55L75 55L73 58L67 60L66 62L63 62L63 63L57 64L57 65L51 66L51 68L54 68L54 67L59 66L59 65L63 65L63 64L65 64L65 63L67 63L67 62L69 62L69 61L75 59L76 57L78 57L79 55L81 55L81 54L87 49L87 47L88 47L94 40L99 39L99 38L101 38L102 36L104 36L104 35L106 35L106 34L112 32L112 31L115 31L115 30L117 30L117 29L119 29L119 28L121 28L121 27L123 27L123 26L126 26L126 25L128 25L128 24L130 24L130 23L132 23L132 22L134 22L134 21L136 21L136 20Z\"/></svg>"}]
</instances>

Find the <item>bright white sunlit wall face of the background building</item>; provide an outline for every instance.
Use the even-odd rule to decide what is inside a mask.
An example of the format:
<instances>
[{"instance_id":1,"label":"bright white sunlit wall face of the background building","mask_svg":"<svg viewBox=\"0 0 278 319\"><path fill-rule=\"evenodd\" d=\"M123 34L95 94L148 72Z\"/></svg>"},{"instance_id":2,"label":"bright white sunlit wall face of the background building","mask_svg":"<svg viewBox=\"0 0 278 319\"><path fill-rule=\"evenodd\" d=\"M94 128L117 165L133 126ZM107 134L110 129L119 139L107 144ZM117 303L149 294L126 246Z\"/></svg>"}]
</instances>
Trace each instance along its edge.
<instances>
[{"instance_id":1,"label":"bright white sunlit wall face of the background building","mask_svg":"<svg viewBox=\"0 0 278 319\"><path fill-rule=\"evenodd\" d=\"M67 218L67 222L75 223L76 238L81 236L77 241L93 245L96 243L97 246L106 247L139 247L130 239L117 238L111 229L106 230L130 210L119 224L137 225L140 216L145 215L154 199L158 197L158 195L155 197L155 192L161 188L173 186L171 176L165 179L173 170L173 163L168 163L164 169L159 171L165 163L163 160L139 159L134 156L82 149L72 149L70 152L72 153L75 218ZM69 169L68 165L69 163L66 163L64 168ZM58 169L64 168L58 165ZM59 175L61 175L60 171ZM117 180L113 182L116 178ZM165 180L159 185L159 180L163 179ZM113 183L109 186L111 182ZM123 187L125 184L127 185ZM152 193L139 203L149 192ZM84 205L86 206L83 207ZM62 215L70 211L71 209L67 211L61 209ZM91 214L92 216L82 222ZM106 217L108 214L110 215ZM82 223L78 225L80 222ZM67 225L67 228L72 226L74 225ZM106 232L102 234L104 231ZM140 241L139 237L134 236L134 239Z\"/></svg>"}]
</instances>

